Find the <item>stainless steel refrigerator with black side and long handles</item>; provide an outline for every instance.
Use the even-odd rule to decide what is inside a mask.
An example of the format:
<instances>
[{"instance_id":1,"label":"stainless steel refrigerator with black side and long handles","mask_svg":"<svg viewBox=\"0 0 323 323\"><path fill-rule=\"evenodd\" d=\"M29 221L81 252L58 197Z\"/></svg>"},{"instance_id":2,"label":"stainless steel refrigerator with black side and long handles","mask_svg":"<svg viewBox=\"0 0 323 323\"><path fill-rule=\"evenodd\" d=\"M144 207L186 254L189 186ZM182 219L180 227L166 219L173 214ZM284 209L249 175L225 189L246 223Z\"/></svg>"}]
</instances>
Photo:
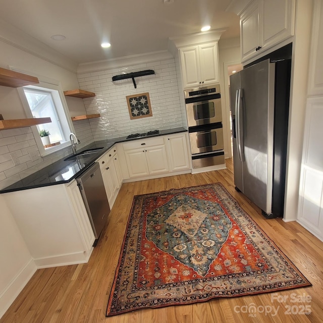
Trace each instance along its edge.
<instances>
[{"instance_id":1,"label":"stainless steel refrigerator with black side and long handles","mask_svg":"<svg viewBox=\"0 0 323 323\"><path fill-rule=\"evenodd\" d=\"M266 218L284 214L290 60L230 76L234 183Z\"/></svg>"}]
</instances>

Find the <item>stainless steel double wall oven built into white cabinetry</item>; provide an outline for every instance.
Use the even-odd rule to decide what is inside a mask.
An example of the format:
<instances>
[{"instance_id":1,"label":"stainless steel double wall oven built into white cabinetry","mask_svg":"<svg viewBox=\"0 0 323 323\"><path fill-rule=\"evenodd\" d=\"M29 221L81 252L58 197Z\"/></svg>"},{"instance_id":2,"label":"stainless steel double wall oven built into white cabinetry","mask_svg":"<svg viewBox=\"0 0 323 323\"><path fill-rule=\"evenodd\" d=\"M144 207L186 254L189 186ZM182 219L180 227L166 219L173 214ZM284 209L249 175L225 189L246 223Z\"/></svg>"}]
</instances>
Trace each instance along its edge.
<instances>
[{"instance_id":1,"label":"stainless steel double wall oven built into white cabinetry","mask_svg":"<svg viewBox=\"0 0 323 323\"><path fill-rule=\"evenodd\" d=\"M184 94L193 168L224 164L220 85Z\"/></svg>"}]
</instances>

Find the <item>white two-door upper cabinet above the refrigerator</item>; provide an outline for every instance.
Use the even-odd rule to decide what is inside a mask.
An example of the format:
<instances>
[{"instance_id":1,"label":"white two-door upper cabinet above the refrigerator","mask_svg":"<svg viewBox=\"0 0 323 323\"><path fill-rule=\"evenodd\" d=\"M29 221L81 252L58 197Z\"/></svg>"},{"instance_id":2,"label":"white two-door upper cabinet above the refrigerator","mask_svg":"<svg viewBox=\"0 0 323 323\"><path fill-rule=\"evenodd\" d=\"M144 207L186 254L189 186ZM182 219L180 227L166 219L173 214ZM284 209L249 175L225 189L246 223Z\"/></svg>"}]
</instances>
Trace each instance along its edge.
<instances>
[{"instance_id":1,"label":"white two-door upper cabinet above the refrigerator","mask_svg":"<svg viewBox=\"0 0 323 323\"><path fill-rule=\"evenodd\" d=\"M246 61L294 35L295 0L255 0L241 14L241 55Z\"/></svg>"}]
</instances>

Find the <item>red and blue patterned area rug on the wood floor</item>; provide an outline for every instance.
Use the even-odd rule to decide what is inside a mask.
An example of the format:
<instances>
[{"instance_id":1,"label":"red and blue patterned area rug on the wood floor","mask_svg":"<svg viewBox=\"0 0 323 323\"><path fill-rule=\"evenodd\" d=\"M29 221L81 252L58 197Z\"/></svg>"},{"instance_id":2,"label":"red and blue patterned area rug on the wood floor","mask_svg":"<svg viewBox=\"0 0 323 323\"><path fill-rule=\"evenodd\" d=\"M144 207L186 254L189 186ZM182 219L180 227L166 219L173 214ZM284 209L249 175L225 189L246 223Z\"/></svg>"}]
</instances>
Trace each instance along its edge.
<instances>
[{"instance_id":1,"label":"red and blue patterned area rug on the wood floor","mask_svg":"<svg viewBox=\"0 0 323 323\"><path fill-rule=\"evenodd\" d=\"M172 189L134 197L106 316L303 286L222 184Z\"/></svg>"}]
</instances>

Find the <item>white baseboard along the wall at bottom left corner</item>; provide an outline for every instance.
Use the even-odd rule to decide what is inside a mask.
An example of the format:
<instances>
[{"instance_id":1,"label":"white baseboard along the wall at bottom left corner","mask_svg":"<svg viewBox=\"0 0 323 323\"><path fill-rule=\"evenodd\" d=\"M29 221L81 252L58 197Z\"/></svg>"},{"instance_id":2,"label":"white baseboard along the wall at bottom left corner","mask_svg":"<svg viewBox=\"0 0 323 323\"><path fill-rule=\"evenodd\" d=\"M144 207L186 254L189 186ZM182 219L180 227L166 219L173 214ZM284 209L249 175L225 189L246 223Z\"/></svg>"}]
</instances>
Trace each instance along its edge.
<instances>
[{"instance_id":1,"label":"white baseboard along the wall at bottom left corner","mask_svg":"<svg viewBox=\"0 0 323 323\"><path fill-rule=\"evenodd\" d=\"M31 258L0 294L0 318L5 314L36 271L36 264Z\"/></svg>"}]
</instances>

